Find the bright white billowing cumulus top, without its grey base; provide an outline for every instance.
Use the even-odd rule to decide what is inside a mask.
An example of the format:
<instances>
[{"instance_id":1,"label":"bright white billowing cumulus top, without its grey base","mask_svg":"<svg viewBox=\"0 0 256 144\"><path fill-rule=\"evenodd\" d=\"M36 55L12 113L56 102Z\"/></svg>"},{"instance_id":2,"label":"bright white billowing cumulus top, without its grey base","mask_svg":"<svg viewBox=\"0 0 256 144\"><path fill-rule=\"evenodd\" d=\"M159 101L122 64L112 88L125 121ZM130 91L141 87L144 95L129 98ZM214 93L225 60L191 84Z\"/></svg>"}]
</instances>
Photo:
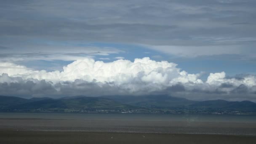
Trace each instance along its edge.
<instances>
[{"instance_id":1,"label":"bright white billowing cumulus top, without its grey base","mask_svg":"<svg viewBox=\"0 0 256 144\"><path fill-rule=\"evenodd\" d=\"M12 63L0 63L0 74L7 73L11 77L23 79L47 80L58 83L60 81L75 81L76 79L88 82L114 82L116 85L133 83L158 83L168 86L176 83L203 83L199 75L187 74L177 68L177 64L168 61L153 61L149 58L117 60L109 63L95 61L90 58L80 59L63 67L63 71L46 72L34 71L25 66Z\"/></svg>"}]
</instances>

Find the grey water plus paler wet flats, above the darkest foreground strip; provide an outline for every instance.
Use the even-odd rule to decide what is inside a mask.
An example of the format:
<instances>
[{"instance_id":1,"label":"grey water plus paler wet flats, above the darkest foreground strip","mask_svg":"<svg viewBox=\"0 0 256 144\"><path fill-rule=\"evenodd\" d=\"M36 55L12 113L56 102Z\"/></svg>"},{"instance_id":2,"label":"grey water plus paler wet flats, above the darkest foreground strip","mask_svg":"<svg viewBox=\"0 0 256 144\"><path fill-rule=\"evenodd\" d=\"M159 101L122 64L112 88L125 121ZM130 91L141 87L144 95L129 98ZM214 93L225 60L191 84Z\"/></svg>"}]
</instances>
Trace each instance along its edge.
<instances>
[{"instance_id":1,"label":"grey water plus paler wet flats, above the darkest foreground strip","mask_svg":"<svg viewBox=\"0 0 256 144\"><path fill-rule=\"evenodd\" d=\"M4 112L0 130L256 136L256 115Z\"/></svg>"}]
</instances>

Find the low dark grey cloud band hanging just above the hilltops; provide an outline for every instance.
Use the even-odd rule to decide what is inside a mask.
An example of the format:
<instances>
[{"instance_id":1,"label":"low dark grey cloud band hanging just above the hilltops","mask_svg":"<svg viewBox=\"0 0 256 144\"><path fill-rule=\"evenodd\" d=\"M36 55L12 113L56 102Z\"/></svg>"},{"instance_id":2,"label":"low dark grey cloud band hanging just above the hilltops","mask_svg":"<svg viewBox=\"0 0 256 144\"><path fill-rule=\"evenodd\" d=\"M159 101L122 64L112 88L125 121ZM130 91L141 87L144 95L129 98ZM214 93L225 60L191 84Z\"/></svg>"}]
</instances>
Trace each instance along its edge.
<instances>
[{"instance_id":1,"label":"low dark grey cloud band hanging just above the hilltops","mask_svg":"<svg viewBox=\"0 0 256 144\"><path fill-rule=\"evenodd\" d=\"M2 80L2 81L1 81ZM5 80L6 82L3 82ZM132 92L131 85L139 88L139 92ZM230 101L250 100L256 101L256 87L248 88L246 85L234 86L224 83L220 86L198 84L176 84L163 88L154 89L157 84L143 83L136 80L129 84L116 85L114 82L101 83L96 80L88 82L77 79L75 81L63 81L52 83L51 81L29 79L23 80L21 77L9 77L7 74L0 76L0 95L19 96L23 98L31 97L51 97L60 98L65 96L104 96L104 95L171 95L183 97L191 100L211 100L225 99ZM229 92L225 88L230 88Z\"/></svg>"}]
</instances>

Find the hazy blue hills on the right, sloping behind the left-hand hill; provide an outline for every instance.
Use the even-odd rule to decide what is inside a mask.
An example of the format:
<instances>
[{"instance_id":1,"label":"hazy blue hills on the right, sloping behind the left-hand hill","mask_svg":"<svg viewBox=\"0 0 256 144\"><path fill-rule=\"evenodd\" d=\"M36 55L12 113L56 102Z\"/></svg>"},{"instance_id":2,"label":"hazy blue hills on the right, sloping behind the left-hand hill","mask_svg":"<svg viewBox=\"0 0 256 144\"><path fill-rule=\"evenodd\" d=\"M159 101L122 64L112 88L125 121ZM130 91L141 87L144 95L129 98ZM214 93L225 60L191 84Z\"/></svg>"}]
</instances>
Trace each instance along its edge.
<instances>
[{"instance_id":1,"label":"hazy blue hills on the right, sloping behind the left-hand hill","mask_svg":"<svg viewBox=\"0 0 256 144\"><path fill-rule=\"evenodd\" d=\"M256 103L251 101L191 101L184 98L149 95L149 96L104 96L124 104L143 108L157 109L183 109L191 112L256 112Z\"/></svg>"}]
</instances>

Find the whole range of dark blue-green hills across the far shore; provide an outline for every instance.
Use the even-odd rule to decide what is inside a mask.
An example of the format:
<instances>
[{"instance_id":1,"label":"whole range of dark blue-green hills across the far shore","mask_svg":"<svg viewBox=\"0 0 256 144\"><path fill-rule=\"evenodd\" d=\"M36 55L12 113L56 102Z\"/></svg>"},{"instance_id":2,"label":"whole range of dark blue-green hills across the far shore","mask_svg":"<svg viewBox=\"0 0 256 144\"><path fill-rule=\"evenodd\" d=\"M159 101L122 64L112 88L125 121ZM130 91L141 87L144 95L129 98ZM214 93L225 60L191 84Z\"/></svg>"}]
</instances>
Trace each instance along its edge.
<instances>
[{"instance_id":1,"label":"whole range of dark blue-green hills across the far shore","mask_svg":"<svg viewBox=\"0 0 256 144\"><path fill-rule=\"evenodd\" d=\"M192 101L167 95L70 96L60 99L0 96L2 112L256 113L251 101Z\"/></svg>"}]
</instances>

